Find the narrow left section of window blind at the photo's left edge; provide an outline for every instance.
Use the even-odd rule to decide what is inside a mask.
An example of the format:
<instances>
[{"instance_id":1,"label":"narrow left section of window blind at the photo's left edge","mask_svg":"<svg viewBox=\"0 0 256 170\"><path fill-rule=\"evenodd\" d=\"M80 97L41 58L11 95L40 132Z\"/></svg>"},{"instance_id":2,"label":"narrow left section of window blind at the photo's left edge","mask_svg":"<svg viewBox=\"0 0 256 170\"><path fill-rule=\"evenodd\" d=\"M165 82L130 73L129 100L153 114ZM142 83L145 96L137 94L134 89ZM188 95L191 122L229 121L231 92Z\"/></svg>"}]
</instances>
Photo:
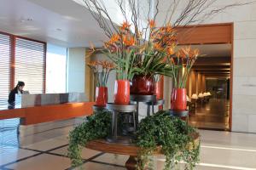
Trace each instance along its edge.
<instances>
[{"instance_id":1,"label":"narrow left section of window blind at the photo's left edge","mask_svg":"<svg viewBox=\"0 0 256 170\"><path fill-rule=\"evenodd\" d=\"M10 36L0 34L0 105L8 104L10 88L10 59L11 40Z\"/></svg>"}]
</instances>

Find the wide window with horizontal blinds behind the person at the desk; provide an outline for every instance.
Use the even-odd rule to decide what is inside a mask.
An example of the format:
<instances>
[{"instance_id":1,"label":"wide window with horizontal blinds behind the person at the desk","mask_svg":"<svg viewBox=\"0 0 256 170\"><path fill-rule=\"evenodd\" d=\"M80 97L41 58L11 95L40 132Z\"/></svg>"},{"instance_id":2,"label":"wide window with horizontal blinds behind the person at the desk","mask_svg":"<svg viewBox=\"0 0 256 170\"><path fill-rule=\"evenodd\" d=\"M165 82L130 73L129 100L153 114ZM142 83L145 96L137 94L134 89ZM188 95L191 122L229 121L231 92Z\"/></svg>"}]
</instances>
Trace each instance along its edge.
<instances>
[{"instance_id":1,"label":"wide window with horizontal blinds behind the person at the desk","mask_svg":"<svg viewBox=\"0 0 256 170\"><path fill-rule=\"evenodd\" d=\"M6 107L18 81L31 94L45 92L45 49L45 42L0 31L0 106Z\"/></svg>"}]
</instances>

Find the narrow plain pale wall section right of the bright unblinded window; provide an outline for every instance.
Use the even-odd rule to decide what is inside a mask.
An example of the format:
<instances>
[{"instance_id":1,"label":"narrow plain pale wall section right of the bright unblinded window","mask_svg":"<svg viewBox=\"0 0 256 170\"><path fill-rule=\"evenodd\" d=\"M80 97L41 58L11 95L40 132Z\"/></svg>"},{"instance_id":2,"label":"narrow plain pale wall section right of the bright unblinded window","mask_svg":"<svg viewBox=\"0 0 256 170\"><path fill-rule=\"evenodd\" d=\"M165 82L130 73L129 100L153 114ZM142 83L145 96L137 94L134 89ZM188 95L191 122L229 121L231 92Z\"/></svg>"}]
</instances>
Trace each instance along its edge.
<instances>
[{"instance_id":1,"label":"narrow plain pale wall section right of the bright unblinded window","mask_svg":"<svg viewBox=\"0 0 256 170\"><path fill-rule=\"evenodd\" d=\"M84 93L85 48L67 50L67 92Z\"/></svg>"}]
</instances>

